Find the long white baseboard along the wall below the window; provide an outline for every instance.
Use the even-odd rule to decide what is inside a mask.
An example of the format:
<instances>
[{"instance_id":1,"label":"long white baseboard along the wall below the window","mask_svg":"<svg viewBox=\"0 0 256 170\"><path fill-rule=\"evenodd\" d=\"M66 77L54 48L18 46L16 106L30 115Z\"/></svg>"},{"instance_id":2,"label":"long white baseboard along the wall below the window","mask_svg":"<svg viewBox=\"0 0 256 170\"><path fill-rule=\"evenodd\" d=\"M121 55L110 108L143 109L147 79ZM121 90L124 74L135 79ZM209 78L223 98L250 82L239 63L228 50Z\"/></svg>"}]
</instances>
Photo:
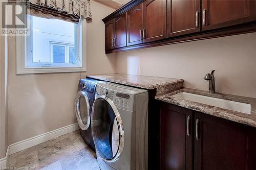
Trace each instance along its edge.
<instances>
[{"instance_id":1,"label":"long white baseboard along the wall below the window","mask_svg":"<svg viewBox=\"0 0 256 170\"><path fill-rule=\"evenodd\" d=\"M78 124L72 124L72 125L68 125L59 129L55 129L53 131L44 133L44 134L40 134L38 136L34 136L31 137L29 139L25 139L13 144L10 144L10 151L9 151L9 155L14 154L16 152L22 151L24 149L33 147L36 144L45 142L47 140L51 140L55 137L61 136L61 135L65 135L67 133L73 132L75 130L78 129Z\"/></svg>"}]
</instances>

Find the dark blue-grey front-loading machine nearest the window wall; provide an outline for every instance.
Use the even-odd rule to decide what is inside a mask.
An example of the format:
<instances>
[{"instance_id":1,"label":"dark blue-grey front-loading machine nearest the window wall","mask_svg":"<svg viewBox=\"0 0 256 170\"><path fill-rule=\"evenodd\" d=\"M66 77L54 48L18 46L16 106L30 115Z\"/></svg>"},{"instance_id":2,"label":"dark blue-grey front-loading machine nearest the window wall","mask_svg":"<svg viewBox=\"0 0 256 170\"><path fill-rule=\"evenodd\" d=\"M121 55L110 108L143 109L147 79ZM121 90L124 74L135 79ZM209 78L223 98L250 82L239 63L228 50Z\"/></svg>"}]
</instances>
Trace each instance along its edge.
<instances>
[{"instance_id":1,"label":"dark blue-grey front-loading machine nearest the window wall","mask_svg":"<svg viewBox=\"0 0 256 170\"><path fill-rule=\"evenodd\" d=\"M96 85L102 81L80 79L75 98L75 113L80 134L84 142L95 151L91 130L91 110L95 99Z\"/></svg>"}]
</instances>

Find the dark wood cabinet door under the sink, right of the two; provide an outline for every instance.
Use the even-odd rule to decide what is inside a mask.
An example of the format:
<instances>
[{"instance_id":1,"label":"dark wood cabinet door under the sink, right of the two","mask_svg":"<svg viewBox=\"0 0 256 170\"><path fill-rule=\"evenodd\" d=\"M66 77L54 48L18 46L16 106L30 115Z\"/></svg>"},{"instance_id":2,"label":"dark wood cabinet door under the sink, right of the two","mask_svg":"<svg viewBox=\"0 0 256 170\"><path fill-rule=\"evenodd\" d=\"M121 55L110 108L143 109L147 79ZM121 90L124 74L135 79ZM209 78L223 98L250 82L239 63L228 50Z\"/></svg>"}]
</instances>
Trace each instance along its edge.
<instances>
[{"instance_id":1,"label":"dark wood cabinet door under the sink, right of the two","mask_svg":"<svg viewBox=\"0 0 256 170\"><path fill-rule=\"evenodd\" d=\"M195 113L195 169L246 169L247 137L244 126Z\"/></svg>"}]
</instances>

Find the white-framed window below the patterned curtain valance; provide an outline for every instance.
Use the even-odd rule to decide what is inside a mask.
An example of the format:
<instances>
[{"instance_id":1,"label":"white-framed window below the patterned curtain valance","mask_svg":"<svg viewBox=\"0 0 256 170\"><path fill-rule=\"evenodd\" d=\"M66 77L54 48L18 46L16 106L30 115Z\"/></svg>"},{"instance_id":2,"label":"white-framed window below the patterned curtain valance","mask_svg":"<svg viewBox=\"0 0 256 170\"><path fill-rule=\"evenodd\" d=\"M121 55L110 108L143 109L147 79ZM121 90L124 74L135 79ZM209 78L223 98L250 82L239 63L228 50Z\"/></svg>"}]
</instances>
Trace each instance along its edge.
<instances>
[{"instance_id":1,"label":"white-framed window below the patterned curtain valance","mask_svg":"<svg viewBox=\"0 0 256 170\"><path fill-rule=\"evenodd\" d=\"M86 21L27 18L30 35L17 36L17 74L86 71Z\"/></svg>"}]
</instances>

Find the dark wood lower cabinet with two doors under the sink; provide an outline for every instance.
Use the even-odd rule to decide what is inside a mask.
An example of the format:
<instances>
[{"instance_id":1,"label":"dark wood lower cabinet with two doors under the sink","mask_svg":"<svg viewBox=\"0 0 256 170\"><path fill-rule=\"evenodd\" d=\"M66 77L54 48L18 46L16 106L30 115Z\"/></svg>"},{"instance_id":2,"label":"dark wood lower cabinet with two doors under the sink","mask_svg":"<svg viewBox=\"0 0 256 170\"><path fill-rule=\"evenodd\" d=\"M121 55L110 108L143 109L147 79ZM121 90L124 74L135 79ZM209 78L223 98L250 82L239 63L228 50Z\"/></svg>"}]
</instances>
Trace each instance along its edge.
<instances>
[{"instance_id":1,"label":"dark wood lower cabinet with two doors under the sink","mask_svg":"<svg viewBox=\"0 0 256 170\"><path fill-rule=\"evenodd\" d=\"M256 128L161 103L160 169L256 169Z\"/></svg>"}]
</instances>

